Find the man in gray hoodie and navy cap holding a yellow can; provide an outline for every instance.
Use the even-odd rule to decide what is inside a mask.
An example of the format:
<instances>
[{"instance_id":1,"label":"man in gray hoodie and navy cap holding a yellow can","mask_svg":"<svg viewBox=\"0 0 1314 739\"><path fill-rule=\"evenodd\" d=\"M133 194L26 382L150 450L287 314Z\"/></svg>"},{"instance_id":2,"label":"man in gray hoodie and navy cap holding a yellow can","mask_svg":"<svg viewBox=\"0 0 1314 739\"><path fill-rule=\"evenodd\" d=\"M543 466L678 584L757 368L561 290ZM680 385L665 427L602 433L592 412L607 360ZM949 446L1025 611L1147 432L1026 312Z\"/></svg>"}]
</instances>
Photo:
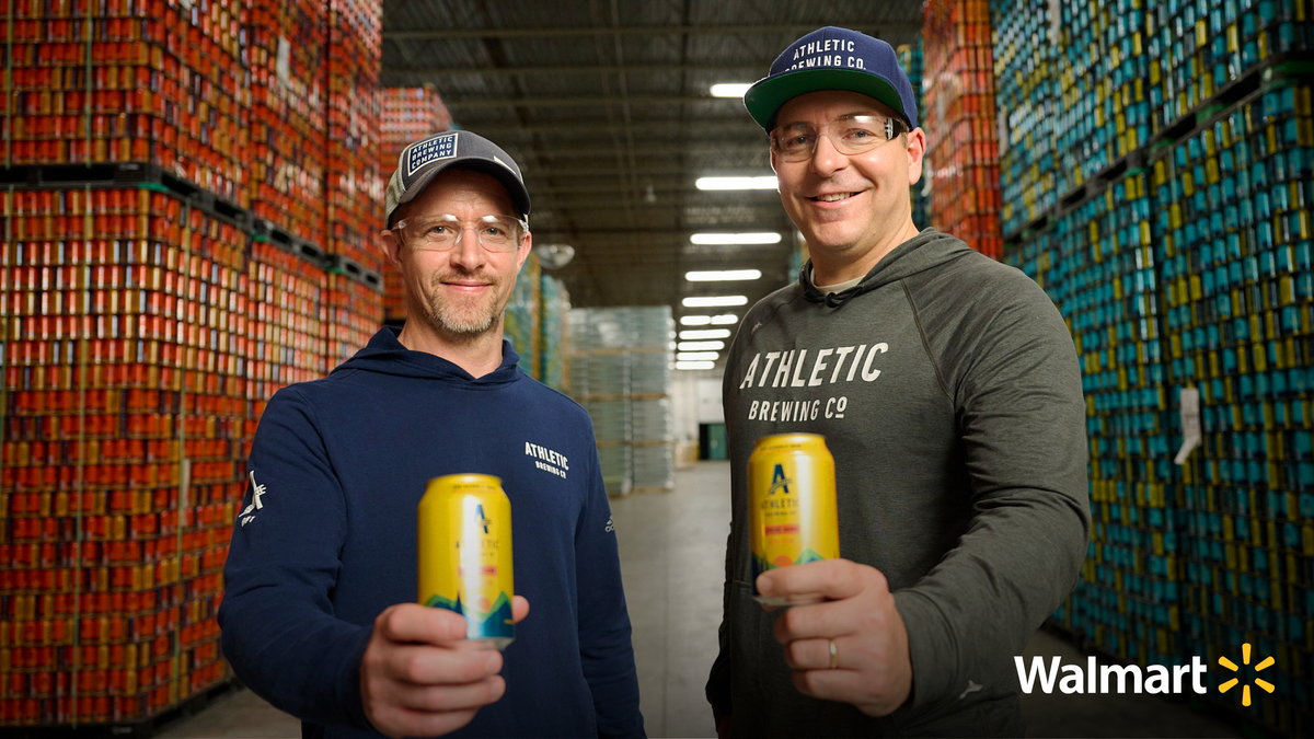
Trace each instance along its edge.
<instances>
[{"instance_id":1,"label":"man in gray hoodie and navy cap holding a yellow can","mask_svg":"<svg viewBox=\"0 0 1314 739\"><path fill-rule=\"evenodd\" d=\"M721 736L1022 735L1013 656L1076 583L1089 535L1076 350L1025 275L918 231L925 134L883 41L824 28L744 103L807 239L725 367L732 459ZM842 559L773 569L753 600L748 459L823 434Z\"/></svg>"}]
</instances>

